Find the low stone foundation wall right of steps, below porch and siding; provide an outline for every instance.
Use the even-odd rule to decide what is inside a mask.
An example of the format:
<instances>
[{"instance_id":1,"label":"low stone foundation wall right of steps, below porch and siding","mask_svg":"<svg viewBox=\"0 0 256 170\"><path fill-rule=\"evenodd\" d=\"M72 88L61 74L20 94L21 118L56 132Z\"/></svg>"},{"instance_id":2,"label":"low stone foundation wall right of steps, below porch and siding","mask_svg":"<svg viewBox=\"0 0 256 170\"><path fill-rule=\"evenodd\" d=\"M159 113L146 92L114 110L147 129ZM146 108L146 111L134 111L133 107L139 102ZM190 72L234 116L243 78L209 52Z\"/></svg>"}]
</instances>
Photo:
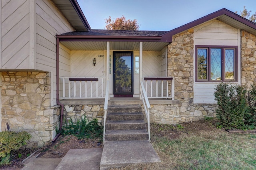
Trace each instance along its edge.
<instances>
[{"instance_id":1,"label":"low stone foundation wall right of steps, below porch and siding","mask_svg":"<svg viewBox=\"0 0 256 170\"><path fill-rule=\"evenodd\" d=\"M143 107L143 105L142 105ZM199 121L205 117L216 117L216 104L203 103L193 105L188 112L180 112L179 105L151 105L150 123L179 124Z\"/></svg>"}]
</instances>

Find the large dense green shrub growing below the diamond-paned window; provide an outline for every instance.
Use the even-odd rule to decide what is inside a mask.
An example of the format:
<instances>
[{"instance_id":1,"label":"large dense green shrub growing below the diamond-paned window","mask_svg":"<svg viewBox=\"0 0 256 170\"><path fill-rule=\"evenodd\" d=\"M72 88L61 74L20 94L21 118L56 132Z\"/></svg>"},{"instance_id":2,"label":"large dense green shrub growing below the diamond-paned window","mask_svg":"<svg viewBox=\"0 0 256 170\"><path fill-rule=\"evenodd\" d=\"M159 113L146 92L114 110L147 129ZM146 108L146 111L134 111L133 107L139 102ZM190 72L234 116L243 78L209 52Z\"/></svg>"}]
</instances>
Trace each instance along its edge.
<instances>
[{"instance_id":1,"label":"large dense green shrub growing below the diamond-paned window","mask_svg":"<svg viewBox=\"0 0 256 170\"><path fill-rule=\"evenodd\" d=\"M249 91L251 97L248 97L244 86L231 83L220 83L216 86L214 99L218 104L216 113L221 126L242 130L255 128L255 87L253 84L252 90Z\"/></svg>"}]
</instances>

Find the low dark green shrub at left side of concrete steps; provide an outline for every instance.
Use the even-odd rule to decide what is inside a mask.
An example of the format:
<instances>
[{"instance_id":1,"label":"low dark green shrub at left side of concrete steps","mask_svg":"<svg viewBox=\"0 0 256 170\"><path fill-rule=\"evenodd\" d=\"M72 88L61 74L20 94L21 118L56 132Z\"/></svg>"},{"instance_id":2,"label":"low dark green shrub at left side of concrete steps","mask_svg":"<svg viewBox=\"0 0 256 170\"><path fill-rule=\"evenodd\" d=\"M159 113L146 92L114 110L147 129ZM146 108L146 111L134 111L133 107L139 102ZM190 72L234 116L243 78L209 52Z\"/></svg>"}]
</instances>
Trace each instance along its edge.
<instances>
[{"instance_id":1,"label":"low dark green shrub at left side of concrete steps","mask_svg":"<svg viewBox=\"0 0 256 170\"><path fill-rule=\"evenodd\" d=\"M88 123L86 117L82 117L76 123L69 121L62 126L62 135L74 134L79 139L81 138L101 138L103 140L103 127L98 125L98 120L93 119Z\"/></svg>"}]
</instances>

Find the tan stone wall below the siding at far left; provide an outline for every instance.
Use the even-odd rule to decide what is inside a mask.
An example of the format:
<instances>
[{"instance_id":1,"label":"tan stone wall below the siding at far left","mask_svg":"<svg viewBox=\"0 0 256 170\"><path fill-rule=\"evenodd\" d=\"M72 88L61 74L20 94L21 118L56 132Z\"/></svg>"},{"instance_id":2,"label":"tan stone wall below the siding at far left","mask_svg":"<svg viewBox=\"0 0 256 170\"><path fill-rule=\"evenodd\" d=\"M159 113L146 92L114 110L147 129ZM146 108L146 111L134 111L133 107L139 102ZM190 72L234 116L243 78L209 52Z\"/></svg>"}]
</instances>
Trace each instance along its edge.
<instances>
[{"instance_id":1,"label":"tan stone wall below the siding at far left","mask_svg":"<svg viewBox=\"0 0 256 170\"><path fill-rule=\"evenodd\" d=\"M2 131L27 131L28 147L44 146L59 127L59 106L51 107L51 77L45 72L2 72Z\"/></svg>"}]
</instances>

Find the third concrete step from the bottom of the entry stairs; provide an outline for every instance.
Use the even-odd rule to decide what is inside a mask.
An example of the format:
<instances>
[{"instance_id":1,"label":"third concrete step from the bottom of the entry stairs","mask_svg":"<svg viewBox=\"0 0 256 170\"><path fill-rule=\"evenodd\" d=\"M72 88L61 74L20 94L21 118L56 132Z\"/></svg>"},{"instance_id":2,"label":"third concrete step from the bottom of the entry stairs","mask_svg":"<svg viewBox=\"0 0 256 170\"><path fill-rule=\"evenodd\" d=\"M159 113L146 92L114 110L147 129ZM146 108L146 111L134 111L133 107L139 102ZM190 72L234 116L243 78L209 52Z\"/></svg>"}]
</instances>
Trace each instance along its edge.
<instances>
[{"instance_id":1,"label":"third concrete step from the bottom of the entry stairs","mask_svg":"<svg viewBox=\"0 0 256 170\"><path fill-rule=\"evenodd\" d=\"M108 113L107 121L128 121L128 120L144 120L142 112L135 113Z\"/></svg>"}]
</instances>

